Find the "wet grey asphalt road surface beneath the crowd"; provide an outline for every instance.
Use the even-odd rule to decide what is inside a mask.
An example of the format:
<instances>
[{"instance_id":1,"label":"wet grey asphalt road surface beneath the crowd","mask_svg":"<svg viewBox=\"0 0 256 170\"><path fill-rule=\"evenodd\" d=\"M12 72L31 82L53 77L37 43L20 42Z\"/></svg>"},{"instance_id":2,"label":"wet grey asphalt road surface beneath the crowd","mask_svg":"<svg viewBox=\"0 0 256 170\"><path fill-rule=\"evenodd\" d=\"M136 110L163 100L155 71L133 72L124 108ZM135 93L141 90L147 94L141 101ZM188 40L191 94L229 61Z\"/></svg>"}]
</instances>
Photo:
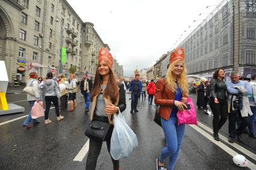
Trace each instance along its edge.
<instances>
[{"instance_id":1,"label":"wet grey asphalt road surface beneath the crowd","mask_svg":"<svg viewBox=\"0 0 256 170\"><path fill-rule=\"evenodd\" d=\"M62 111L63 121L57 121L55 109L50 109L49 118L52 123L44 125L44 118L39 118L41 123L29 130L22 127L25 118L11 123L0 125L0 169L85 169L87 156L82 162L73 161L88 138L84 135L88 114L84 112L84 99L78 94L76 111ZM193 99L195 97L192 96ZM154 123L155 107L148 107L147 100L140 100L139 112L130 115L129 94L126 96L127 108L124 111L127 124L133 129L138 137L139 147L126 159L120 160L121 169L156 169L156 157L165 145L162 129ZM16 102L24 106L25 112L20 114L0 116L0 124L22 117L28 114L29 104L25 94L8 94L8 103ZM196 100L194 100L194 103ZM212 129L212 116L197 111L198 121ZM228 122L221 129L221 135L228 136ZM204 134L207 132L203 127ZM214 144L206 136L199 133L191 126L186 126L186 135L183 139L180 154L175 169L249 169L234 165L232 156L225 148ZM244 144L237 142L246 150L256 154L256 139L243 135ZM237 148L221 140L221 143L236 151ZM256 157L246 156L248 160L256 164ZM167 160L165 165L167 165ZM112 169L112 162L103 144L97 169Z\"/></svg>"}]
</instances>

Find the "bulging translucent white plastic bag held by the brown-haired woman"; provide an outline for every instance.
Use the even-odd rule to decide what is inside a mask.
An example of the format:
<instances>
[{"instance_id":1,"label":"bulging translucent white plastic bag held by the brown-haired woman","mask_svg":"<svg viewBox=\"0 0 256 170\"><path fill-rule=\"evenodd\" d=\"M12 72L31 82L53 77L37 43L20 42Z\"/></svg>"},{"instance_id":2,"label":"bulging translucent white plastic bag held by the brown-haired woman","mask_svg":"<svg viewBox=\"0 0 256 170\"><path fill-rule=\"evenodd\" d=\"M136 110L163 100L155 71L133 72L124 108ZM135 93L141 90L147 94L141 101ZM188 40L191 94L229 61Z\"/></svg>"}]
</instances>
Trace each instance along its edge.
<instances>
[{"instance_id":1,"label":"bulging translucent white plastic bag held by the brown-haired woman","mask_svg":"<svg viewBox=\"0 0 256 170\"><path fill-rule=\"evenodd\" d=\"M138 147L138 139L135 133L126 124L126 119L119 112L114 114L114 130L111 136L110 154L113 159L120 160L128 157L134 148Z\"/></svg>"}]
</instances>

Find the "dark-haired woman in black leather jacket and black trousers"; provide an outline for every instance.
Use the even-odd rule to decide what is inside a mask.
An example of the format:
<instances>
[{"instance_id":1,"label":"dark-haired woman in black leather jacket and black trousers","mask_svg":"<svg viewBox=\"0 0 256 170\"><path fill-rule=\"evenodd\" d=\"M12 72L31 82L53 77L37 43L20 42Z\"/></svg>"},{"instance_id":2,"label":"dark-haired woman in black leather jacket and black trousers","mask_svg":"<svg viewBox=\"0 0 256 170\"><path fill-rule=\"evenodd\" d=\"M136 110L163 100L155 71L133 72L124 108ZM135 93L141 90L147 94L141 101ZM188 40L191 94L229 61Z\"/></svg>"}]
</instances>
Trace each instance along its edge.
<instances>
[{"instance_id":1,"label":"dark-haired woman in black leather jacket and black trousers","mask_svg":"<svg viewBox=\"0 0 256 170\"><path fill-rule=\"evenodd\" d=\"M209 105L213 112L213 137L216 141L219 141L219 130L228 117L227 85L224 82L224 77L225 71L218 69L213 73L210 82L211 94Z\"/></svg>"}]
</instances>

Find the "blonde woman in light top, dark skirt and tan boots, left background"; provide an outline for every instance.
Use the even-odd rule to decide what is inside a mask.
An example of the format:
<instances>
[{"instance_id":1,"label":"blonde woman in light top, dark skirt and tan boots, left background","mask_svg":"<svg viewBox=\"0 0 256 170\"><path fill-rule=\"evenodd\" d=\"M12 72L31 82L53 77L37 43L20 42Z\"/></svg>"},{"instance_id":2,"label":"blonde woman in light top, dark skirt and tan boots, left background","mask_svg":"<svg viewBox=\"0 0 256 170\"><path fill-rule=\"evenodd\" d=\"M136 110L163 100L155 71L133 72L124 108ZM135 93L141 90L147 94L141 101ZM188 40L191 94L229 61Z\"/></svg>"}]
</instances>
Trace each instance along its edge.
<instances>
[{"instance_id":1,"label":"blonde woman in light top, dark skirt and tan boots, left background","mask_svg":"<svg viewBox=\"0 0 256 170\"><path fill-rule=\"evenodd\" d=\"M70 74L70 83L69 83L69 100L70 100L70 107L68 112L73 112L76 109L75 106L75 99L76 99L76 92L74 91L76 89L76 79L74 74Z\"/></svg>"}]
</instances>

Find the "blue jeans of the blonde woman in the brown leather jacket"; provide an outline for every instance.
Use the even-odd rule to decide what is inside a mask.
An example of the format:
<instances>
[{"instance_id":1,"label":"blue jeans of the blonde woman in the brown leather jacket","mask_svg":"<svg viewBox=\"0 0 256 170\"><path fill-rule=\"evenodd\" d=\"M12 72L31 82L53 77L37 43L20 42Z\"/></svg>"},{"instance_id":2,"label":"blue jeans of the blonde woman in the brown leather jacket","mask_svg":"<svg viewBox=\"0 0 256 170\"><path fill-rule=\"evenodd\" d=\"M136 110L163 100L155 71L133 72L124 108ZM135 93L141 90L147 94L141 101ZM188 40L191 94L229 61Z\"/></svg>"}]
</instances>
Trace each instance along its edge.
<instances>
[{"instance_id":1,"label":"blue jeans of the blonde woman in the brown leather jacket","mask_svg":"<svg viewBox=\"0 0 256 170\"><path fill-rule=\"evenodd\" d=\"M177 125L177 122L176 117L169 117L168 121L161 118L163 133L165 133L166 147L163 148L159 156L159 162L163 163L163 160L169 158L169 170L174 169L178 151L180 150L185 133L185 124Z\"/></svg>"}]
</instances>

